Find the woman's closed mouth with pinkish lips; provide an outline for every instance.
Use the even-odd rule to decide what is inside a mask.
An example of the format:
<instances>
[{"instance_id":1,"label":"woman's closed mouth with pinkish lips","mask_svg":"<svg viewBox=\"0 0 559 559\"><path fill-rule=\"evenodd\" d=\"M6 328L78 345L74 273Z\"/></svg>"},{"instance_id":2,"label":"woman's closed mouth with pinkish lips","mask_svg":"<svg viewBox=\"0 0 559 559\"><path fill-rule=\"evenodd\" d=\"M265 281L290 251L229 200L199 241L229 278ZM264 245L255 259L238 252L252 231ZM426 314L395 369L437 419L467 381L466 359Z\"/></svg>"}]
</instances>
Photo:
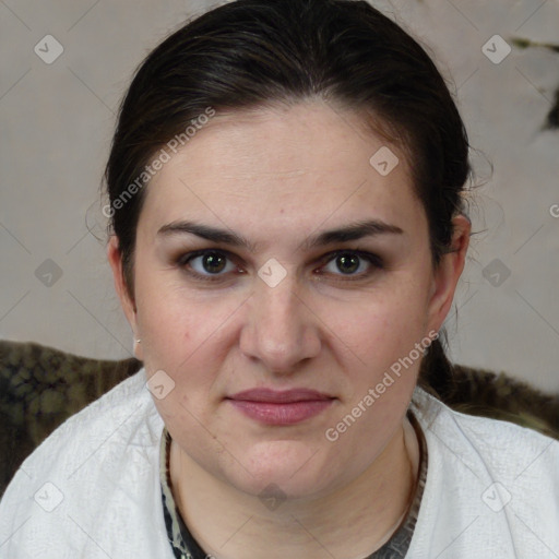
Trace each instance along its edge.
<instances>
[{"instance_id":1,"label":"woman's closed mouth with pinkish lips","mask_svg":"<svg viewBox=\"0 0 559 559\"><path fill-rule=\"evenodd\" d=\"M251 419L264 425L294 425L328 409L336 400L310 389L253 389L226 399Z\"/></svg>"}]
</instances>

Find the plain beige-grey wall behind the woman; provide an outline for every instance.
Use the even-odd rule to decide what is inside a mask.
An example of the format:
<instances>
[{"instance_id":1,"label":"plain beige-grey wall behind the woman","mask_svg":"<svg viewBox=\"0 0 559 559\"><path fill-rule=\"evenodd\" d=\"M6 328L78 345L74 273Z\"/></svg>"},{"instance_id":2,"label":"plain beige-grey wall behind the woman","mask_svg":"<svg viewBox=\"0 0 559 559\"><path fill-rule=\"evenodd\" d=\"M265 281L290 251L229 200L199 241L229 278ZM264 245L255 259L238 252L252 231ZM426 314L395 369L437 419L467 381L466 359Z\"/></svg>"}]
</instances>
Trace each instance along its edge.
<instances>
[{"instance_id":1,"label":"plain beige-grey wall behind the woman","mask_svg":"<svg viewBox=\"0 0 559 559\"><path fill-rule=\"evenodd\" d=\"M447 321L451 355L557 391L559 131L539 129L559 86L559 53L520 49L511 38L559 44L559 2L373 3L430 47L457 92L472 144L495 167L491 175L474 154L478 180L487 181L472 212L483 233ZM148 50L211 5L0 2L0 338L130 355L131 332L95 238L115 112ZM488 43L496 34L512 47L499 63L507 46ZM56 55L46 35L63 48L49 64L34 51L38 44L43 58Z\"/></svg>"}]
</instances>

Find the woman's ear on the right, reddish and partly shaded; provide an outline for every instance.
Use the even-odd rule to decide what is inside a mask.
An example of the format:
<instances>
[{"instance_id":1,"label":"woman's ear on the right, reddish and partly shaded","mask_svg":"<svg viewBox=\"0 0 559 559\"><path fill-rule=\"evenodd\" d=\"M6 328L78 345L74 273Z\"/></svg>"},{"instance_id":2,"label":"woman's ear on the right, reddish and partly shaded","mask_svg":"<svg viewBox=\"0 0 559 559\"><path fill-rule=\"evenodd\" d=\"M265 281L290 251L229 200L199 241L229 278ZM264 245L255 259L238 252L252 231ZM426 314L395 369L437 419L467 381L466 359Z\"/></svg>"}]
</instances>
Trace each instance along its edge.
<instances>
[{"instance_id":1,"label":"woman's ear on the right, reddish and partly shaded","mask_svg":"<svg viewBox=\"0 0 559 559\"><path fill-rule=\"evenodd\" d=\"M466 260L472 224L465 215L452 219L454 233L451 250L441 257L439 266L433 273L429 297L428 328L438 332L449 313L454 292Z\"/></svg>"}]
</instances>

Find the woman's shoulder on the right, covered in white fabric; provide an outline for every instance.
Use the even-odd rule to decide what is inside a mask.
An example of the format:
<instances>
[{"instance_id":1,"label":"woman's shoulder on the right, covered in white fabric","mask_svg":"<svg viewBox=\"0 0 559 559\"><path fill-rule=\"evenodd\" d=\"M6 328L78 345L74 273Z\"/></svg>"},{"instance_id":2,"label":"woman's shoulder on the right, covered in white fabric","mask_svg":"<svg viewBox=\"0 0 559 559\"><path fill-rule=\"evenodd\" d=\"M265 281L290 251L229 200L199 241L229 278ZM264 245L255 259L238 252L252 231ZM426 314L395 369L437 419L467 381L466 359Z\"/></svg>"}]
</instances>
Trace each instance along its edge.
<instances>
[{"instance_id":1,"label":"woman's shoulder on the right, covered in white fabric","mask_svg":"<svg viewBox=\"0 0 559 559\"><path fill-rule=\"evenodd\" d=\"M548 557L559 550L559 441L457 413L416 388L427 479L412 557Z\"/></svg>"}]
</instances>

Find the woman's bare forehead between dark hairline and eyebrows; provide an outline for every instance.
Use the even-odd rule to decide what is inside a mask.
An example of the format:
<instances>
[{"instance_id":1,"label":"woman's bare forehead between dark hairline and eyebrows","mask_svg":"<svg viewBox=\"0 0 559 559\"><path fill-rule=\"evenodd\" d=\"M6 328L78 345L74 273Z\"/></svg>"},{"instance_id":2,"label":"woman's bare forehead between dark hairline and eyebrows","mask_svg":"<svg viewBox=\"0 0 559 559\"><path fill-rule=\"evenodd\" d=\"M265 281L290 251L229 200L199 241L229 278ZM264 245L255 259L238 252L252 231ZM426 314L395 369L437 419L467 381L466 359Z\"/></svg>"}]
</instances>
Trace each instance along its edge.
<instances>
[{"instance_id":1,"label":"woman's bare forehead between dark hairline and eyebrows","mask_svg":"<svg viewBox=\"0 0 559 559\"><path fill-rule=\"evenodd\" d=\"M364 119L323 102L217 112L170 153L144 209L155 221L411 218L417 200L403 150Z\"/></svg>"}]
</instances>

